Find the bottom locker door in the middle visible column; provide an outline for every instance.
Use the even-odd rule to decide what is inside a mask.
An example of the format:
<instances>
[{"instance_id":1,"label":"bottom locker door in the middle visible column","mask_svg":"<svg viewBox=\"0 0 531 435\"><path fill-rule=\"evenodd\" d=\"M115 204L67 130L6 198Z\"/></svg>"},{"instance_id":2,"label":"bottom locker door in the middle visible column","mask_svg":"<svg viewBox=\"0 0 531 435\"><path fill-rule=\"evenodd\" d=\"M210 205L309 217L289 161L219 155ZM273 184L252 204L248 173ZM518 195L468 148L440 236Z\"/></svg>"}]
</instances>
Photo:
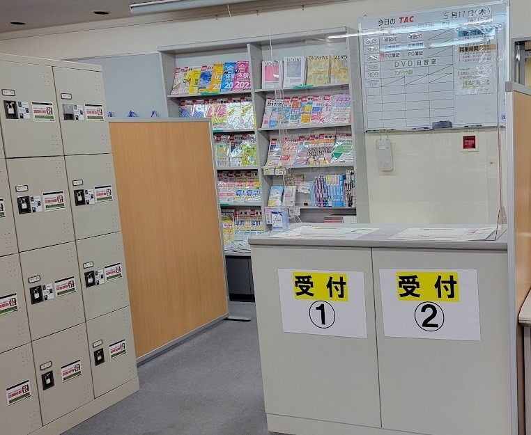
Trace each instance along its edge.
<instances>
[{"instance_id":1,"label":"bottom locker door in the middle visible column","mask_svg":"<svg viewBox=\"0 0 531 435\"><path fill-rule=\"evenodd\" d=\"M43 425L94 399L86 326L33 342Z\"/></svg>"}]
</instances>

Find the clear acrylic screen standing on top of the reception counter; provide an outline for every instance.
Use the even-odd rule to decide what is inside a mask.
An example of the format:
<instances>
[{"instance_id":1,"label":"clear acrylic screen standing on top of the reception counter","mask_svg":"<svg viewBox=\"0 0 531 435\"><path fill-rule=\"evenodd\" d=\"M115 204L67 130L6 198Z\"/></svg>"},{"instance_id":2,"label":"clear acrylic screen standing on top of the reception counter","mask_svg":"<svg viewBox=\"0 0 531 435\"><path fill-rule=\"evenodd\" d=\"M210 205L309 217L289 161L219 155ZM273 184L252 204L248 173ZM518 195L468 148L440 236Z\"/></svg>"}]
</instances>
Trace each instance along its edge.
<instances>
[{"instance_id":1,"label":"clear acrylic screen standing on top of the reception counter","mask_svg":"<svg viewBox=\"0 0 531 435\"><path fill-rule=\"evenodd\" d=\"M323 29L272 34L260 47L255 97L264 109L256 121L268 150L269 229L368 223L369 215L385 223L505 223L505 26L478 17L431 24L440 38L424 40L409 26ZM370 95L367 74L379 85ZM368 104L382 120L424 118L408 128L369 125ZM463 104L475 111L470 123L456 122Z\"/></svg>"}]
</instances>

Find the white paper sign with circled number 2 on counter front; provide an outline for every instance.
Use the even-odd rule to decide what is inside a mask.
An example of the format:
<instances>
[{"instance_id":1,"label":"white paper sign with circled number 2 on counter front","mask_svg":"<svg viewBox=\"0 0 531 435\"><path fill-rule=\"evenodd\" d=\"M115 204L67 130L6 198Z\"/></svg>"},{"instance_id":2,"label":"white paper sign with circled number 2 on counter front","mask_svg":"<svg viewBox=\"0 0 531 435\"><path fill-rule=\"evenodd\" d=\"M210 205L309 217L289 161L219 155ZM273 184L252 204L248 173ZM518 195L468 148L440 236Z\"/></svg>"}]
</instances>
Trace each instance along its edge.
<instances>
[{"instance_id":1,"label":"white paper sign with circled number 2 on counter front","mask_svg":"<svg viewBox=\"0 0 531 435\"><path fill-rule=\"evenodd\" d=\"M386 337L481 340L477 270L380 269Z\"/></svg>"}]
</instances>

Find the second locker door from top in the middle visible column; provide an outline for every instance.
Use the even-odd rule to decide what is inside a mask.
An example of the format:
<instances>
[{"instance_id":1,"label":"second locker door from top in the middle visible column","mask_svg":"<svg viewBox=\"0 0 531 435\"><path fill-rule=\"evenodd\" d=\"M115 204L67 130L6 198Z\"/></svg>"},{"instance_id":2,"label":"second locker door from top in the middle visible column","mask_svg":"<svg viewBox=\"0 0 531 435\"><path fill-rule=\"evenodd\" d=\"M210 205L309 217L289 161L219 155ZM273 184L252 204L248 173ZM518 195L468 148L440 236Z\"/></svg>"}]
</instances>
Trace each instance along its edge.
<instances>
[{"instance_id":1,"label":"second locker door from top in the middle visible column","mask_svg":"<svg viewBox=\"0 0 531 435\"><path fill-rule=\"evenodd\" d=\"M74 240L64 157L8 159L20 251Z\"/></svg>"}]
</instances>

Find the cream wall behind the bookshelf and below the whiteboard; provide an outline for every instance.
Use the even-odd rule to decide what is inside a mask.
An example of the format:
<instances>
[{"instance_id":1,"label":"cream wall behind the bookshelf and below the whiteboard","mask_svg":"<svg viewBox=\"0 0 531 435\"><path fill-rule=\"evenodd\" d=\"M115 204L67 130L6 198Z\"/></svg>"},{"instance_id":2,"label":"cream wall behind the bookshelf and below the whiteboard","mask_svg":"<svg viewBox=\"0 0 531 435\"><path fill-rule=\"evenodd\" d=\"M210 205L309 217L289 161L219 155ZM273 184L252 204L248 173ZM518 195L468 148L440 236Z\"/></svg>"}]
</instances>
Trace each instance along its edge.
<instances>
[{"instance_id":1,"label":"cream wall behind the bookshelf and below the whiteboard","mask_svg":"<svg viewBox=\"0 0 531 435\"><path fill-rule=\"evenodd\" d=\"M163 45L248 38L335 26L357 27L362 15L461 6L467 0L358 0L232 17L146 22L121 19L0 35L0 52L47 58L83 58L153 52ZM257 3L259 4L259 3ZM259 6L257 6L259 8ZM525 37L530 0L511 0L511 36ZM144 23L142 23L144 21ZM479 152L461 152L461 132L392 134L395 169L380 173L374 134L367 134L371 221L493 223L498 216L496 132L479 133Z\"/></svg>"}]
</instances>

